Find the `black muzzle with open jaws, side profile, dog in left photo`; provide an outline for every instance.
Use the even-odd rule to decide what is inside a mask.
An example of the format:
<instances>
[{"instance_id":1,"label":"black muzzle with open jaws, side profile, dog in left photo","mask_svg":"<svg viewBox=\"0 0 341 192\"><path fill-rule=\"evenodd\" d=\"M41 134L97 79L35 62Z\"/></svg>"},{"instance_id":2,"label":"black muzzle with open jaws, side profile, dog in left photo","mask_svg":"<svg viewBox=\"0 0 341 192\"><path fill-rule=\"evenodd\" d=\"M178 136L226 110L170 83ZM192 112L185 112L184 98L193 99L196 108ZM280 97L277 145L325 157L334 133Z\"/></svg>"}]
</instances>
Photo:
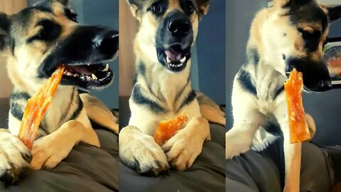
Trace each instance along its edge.
<instances>
[{"instance_id":1,"label":"black muzzle with open jaws, side profile, dog in left photo","mask_svg":"<svg viewBox=\"0 0 341 192\"><path fill-rule=\"evenodd\" d=\"M118 49L118 31L102 26L78 26L45 58L40 75L48 78L55 68L64 65L62 85L84 89L105 87L114 77L107 62L117 55Z\"/></svg>"}]
</instances>

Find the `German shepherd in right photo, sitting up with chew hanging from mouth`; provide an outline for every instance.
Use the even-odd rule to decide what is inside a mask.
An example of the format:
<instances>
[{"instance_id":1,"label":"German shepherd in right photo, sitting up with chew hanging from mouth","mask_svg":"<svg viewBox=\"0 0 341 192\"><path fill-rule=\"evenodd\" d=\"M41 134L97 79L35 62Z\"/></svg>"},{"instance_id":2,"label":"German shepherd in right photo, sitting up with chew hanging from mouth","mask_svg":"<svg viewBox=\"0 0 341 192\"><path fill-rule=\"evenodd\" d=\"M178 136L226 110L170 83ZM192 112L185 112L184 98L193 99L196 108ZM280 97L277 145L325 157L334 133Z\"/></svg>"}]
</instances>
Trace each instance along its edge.
<instances>
[{"instance_id":1,"label":"German shepherd in right photo, sitting up with chew hanging from mouth","mask_svg":"<svg viewBox=\"0 0 341 192\"><path fill-rule=\"evenodd\" d=\"M301 144L289 142L283 83L296 68L303 73L305 91L331 89L323 46L330 22L340 17L341 6L323 6L315 0L274 0L274 6L259 11L251 24L247 60L234 78L234 124L226 134L226 156L229 159L249 150L259 127L280 134L286 164L284 191L299 191ZM308 125L313 134L315 123L310 117Z\"/></svg>"}]
</instances>

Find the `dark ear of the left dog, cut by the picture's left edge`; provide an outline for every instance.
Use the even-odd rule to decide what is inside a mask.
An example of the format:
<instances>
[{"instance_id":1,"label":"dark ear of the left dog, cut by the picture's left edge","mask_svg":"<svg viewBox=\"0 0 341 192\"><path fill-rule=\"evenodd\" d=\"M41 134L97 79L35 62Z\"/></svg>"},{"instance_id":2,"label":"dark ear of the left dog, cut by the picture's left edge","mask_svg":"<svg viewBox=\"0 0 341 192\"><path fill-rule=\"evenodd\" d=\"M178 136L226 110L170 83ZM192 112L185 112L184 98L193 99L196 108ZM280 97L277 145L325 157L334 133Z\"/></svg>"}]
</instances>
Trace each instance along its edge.
<instances>
[{"instance_id":1,"label":"dark ear of the left dog, cut by the picture's left edge","mask_svg":"<svg viewBox=\"0 0 341 192\"><path fill-rule=\"evenodd\" d=\"M9 28L11 26L11 21L9 16L0 12L0 53L7 46L9 46Z\"/></svg>"}]
</instances>

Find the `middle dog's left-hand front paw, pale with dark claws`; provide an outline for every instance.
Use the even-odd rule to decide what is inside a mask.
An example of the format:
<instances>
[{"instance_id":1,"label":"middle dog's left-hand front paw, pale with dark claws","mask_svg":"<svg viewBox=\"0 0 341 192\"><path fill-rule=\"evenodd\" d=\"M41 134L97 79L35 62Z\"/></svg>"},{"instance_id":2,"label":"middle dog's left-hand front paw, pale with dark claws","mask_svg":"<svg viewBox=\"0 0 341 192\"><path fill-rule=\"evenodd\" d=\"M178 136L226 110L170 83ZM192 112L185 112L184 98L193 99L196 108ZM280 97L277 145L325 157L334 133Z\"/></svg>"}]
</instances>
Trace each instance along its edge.
<instances>
[{"instance_id":1,"label":"middle dog's left-hand front paw, pale with dark claws","mask_svg":"<svg viewBox=\"0 0 341 192\"><path fill-rule=\"evenodd\" d=\"M161 146L134 126L125 127L119 133L119 157L139 174L158 175L169 169Z\"/></svg>"}]
</instances>

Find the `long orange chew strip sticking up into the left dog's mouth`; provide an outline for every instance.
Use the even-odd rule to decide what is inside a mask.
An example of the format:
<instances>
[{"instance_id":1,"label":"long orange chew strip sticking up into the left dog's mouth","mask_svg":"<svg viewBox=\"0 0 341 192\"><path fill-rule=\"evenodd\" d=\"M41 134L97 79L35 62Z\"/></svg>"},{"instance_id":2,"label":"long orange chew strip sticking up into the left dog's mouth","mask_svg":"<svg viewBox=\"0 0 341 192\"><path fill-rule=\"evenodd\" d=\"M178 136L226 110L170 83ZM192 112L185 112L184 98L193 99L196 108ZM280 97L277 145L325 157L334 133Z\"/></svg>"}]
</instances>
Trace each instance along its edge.
<instances>
[{"instance_id":1,"label":"long orange chew strip sticking up into the left dog's mouth","mask_svg":"<svg viewBox=\"0 0 341 192\"><path fill-rule=\"evenodd\" d=\"M27 102L18 137L28 149L32 149L41 119L43 119L48 105L50 105L52 97L55 95L64 71L64 67L58 67L48 79L48 82Z\"/></svg>"}]
</instances>

